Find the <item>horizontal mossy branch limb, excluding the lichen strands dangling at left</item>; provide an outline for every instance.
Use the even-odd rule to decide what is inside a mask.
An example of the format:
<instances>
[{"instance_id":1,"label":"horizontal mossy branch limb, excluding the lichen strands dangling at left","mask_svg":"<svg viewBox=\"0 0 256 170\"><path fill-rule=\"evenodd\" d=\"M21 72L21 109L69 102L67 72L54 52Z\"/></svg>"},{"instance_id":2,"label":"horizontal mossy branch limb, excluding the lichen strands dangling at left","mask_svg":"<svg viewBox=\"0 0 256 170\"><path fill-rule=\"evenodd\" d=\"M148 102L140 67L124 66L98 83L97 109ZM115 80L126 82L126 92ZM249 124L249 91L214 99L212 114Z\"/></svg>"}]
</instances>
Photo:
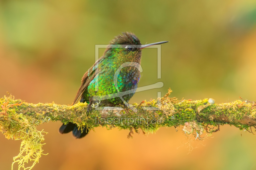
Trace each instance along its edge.
<instances>
[{"instance_id":1,"label":"horizontal mossy branch limb, excluding the lichen strands dangling at left","mask_svg":"<svg viewBox=\"0 0 256 170\"><path fill-rule=\"evenodd\" d=\"M170 93L170 92L169 92ZM184 125L185 122L195 121L199 124L217 125L230 124L240 129L256 126L256 104L236 100L230 103L212 104L204 100L178 100L165 95L161 106L157 100L143 101L133 104L137 112L119 106L112 110L111 107L96 107L87 116L87 103L78 103L73 106L58 105L55 103L32 104L22 100L14 100L13 96L0 99L0 125L3 129L12 130L19 120L6 119L11 115L22 115L29 122L38 125L48 121L73 122L80 127L87 126L88 130L97 126L112 125L122 129L141 128L145 130L159 127ZM213 101L214 102L214 101ZM153 107L145 110L144 107ZM159 110L157 110L158 107ZM149 108L151 109L151 108ZM145 121L144 121L145 120ZM10 121L10 122L8 122ZM3 126L8 122L9 126ZM14 125L12 125L12 123ZM22 123L20 123L22 124Z\"/></svg>"}]
</instances>

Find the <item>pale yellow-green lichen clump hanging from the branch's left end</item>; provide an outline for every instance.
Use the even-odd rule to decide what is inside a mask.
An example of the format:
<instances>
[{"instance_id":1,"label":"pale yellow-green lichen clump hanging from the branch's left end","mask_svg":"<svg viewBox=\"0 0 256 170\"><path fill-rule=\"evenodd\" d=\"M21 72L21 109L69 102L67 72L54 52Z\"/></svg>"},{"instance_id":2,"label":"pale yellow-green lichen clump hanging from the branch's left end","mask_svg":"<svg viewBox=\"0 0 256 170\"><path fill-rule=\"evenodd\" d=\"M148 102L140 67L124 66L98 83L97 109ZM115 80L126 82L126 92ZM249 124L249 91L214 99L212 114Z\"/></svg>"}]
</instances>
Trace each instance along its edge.
<instances>
[{"instance_id":1,"label":"pale yellow-green lichen clump hanging from the branch's left end","mask_svg":"<svg viewBox=\"0 0 256 170\"><path fill-rule=\"evenodd\" d=\"M14 100L13 96L9 97ZM12 104L8 100L9 98L4 96L0 101L2 112L0 112L0 129L6 129L4 133L5 137L15 140L22 140L20 145L20 153L13 158L12 170L15 163L18 163L18 170L31 170L35 164L39 161L39 158L43 154L42 142L44 141L43 131L36 130L36 125L44 121L35 121L28 115L17 114L16 106L20 106L22 102ZM0 111L1 111L0 110ZM46 121L45 121L46 122ZM26 167L26 163L33 162L31 166Z\"/></svg>"}]
</instances>

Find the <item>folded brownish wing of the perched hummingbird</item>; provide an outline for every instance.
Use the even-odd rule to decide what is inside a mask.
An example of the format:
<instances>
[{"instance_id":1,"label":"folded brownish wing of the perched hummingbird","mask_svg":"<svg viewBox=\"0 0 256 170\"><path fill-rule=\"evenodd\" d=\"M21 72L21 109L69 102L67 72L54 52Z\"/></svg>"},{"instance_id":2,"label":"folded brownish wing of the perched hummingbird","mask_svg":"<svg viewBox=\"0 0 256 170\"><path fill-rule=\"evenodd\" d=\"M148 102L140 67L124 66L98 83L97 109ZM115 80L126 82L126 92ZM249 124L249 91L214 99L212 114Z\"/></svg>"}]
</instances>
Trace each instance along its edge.
<instances>
[{"instance_id":1,"label":"folded brownish wing of the perched hummingbird","mask_svg":"<svg viewBox=\"0 0 256 170\"><path fill-rule=\"evenodd\" d=\"M82 84L81 84L78 92L76 93L76 98L72 105L77 103L77 101L82 96L84 90L87 89L90 82L93 80L93 78L95 78L95 68L98 66L101 59L102 59L102 57L100 57L99 60L96 63L94 63L93 66L88 71L86 71L86 73L84 73L84 76L82 78Z\"/></svg>"}]
</instances>

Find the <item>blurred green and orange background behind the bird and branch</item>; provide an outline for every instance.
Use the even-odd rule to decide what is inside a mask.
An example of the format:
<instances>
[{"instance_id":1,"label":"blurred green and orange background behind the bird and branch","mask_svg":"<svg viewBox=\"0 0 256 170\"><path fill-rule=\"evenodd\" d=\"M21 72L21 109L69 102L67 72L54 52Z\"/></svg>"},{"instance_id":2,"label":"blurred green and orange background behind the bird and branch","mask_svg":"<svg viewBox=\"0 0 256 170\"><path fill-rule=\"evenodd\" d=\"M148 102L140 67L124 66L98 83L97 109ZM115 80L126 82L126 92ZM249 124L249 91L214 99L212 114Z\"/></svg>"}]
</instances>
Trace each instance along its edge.
<instances>
[{"instance_id":1,"label":"blurred green and orange background behind the bird and branch","mask_svg":"<svg viewBox=\"0 0 256 170\"><path fill-rule=\"evenodd\" d=\"M30 103L72 104L84 73L95 62L95 44L108 44L124 31L142 44L139 86L164 83L136 93L130 103L156 99L170 87L180 100L213 98L216 103L256 100L256 2L208 1L0 1L0 97ZM104 49L100 49L102 54ZM192 141L188 154L182 127L155 134L95 128L76 140L60 135L61 122L38 126L44 153L34 170L84 169L256 169L256 136L225 125L205 141ZM242 135L242 136L241 136ZM194 140L194 138L192 139ZM180 148L178 148L180 147ZM0 135L0 169L11 168L20 141ZM178 149L177 149L178 148Z\"/></svg>"}]
</instances>

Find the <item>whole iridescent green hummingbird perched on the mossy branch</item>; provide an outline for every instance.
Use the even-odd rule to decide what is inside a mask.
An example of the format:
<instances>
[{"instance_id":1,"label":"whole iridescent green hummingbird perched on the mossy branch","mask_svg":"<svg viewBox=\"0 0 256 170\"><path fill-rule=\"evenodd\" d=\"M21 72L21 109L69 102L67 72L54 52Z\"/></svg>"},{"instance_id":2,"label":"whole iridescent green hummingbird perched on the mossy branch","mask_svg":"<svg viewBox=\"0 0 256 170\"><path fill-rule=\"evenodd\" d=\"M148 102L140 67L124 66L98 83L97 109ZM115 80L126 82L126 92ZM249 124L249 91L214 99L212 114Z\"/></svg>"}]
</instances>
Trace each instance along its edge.
<instances>
[{"instance_id":1,"label":"whole iridescent green hummingbird perched on the mossy branch","mask_svg":"<svg viewBox=\"0 0 256 170\"><path fill-rule=\"evenodd\" d=\"M92 104L114 107L123 104L132 98L140 81L140 70L134 66L126 66L119 70L116 82L114 82L115 73L123 63L138 63L141 61L141 50L143 48L163 44L169 41L161 41L152 44L142 45L138 37L129 32L123 32L110 41L103 55L97 62L84 74L82 84L76 94L73 105L78 102L87 102L87 115L91 112ZM96 80L97 78L97 80ZM97 81L97 89L96 89ZM116 86L118 89L116 89ZM132 93L111 99L94 101L93 96L111 95L114 93L133 90ZM117 91L118 90L118 91ZM126 106L128 107L128 106ZM82 138L88 134L87 128L83 130L77 127L75 123L68 122L60 127L60 134L73 132L75 138ZM82 133L83 131L83 133Z\"/></svg>"}]
</instances>

